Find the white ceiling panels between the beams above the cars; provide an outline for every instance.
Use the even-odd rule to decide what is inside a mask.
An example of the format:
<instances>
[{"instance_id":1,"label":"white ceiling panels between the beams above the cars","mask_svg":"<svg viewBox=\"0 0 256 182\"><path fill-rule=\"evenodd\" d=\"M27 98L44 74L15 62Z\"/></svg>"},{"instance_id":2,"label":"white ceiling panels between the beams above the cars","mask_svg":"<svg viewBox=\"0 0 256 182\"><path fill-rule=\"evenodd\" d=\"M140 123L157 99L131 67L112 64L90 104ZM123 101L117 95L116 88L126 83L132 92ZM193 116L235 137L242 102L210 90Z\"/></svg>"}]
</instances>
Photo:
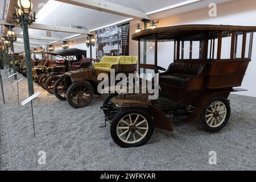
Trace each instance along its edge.
<instances>
[{"instance_id":1,"label":"white ceiling panels between the beams above the cars","mask_svg":"<svg viewBox=\"0 0 256 182\"><path fill-rule=\"evenodd\" d=\"M93 30L94 28L106 26L121 20L127 19L127 17L105 13L102 11L86 9L85 7L79 7L62 3L53 0L31 0L36 11L37 23L49 24L52 26L69 27L71 24L82 26L87 30ZM97 1L97 0L95 0ZM185 2L187 0L106 0L119 5L131 7L133 9L142 10L145 13L150 11L162 9L164 7L176 5L177 3ZM178 7L176 9L164 11L161 13L148 15L152 19L161 19L168 16L186 13L189 11L203 9L208 7L210 2L225 3L234 0L204 0L191 5ZM22 33L20 28L15 28L17 33ZM46 36L46 31L43 30L29 30L30 35ZM52 37L67 38L75 34L69 34L64 32L52 32ZM74 39L84 38L83 36L77 36ZM42 41L42 44L49 44L49 42Z\"/></svg>"}]
</instances>

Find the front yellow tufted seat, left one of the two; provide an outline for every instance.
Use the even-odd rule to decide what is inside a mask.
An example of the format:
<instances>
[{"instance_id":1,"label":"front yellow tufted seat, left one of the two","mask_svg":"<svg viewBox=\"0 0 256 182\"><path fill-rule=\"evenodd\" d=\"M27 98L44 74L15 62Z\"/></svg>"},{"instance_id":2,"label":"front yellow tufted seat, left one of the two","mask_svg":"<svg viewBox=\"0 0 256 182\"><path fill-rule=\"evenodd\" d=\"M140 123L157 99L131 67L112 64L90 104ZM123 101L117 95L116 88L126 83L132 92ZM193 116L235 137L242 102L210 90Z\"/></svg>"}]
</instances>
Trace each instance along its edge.
<instances>
[{"instance_id":1,"label":"front yellow tufted seat, left one of the two","mask_svg":"<svg viewBox=\"0 0 256 182\"><path fill-rule=\"evenodd\" d=\"M94 69L110 72L112 65L119 64L119 56L103 56L100 63L94 63Z\"/></svg>"}]
</instances>

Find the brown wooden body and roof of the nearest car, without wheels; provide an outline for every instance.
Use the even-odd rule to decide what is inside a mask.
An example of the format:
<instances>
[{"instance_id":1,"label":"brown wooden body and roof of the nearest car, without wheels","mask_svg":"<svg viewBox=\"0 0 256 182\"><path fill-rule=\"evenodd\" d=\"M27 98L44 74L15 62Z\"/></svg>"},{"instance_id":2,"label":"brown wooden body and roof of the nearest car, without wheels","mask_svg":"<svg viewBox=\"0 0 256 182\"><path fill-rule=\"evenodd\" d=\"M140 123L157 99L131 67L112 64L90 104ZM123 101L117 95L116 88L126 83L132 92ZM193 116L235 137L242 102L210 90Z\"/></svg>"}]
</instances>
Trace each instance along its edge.
<instances>
[{"instance_id":1,"label":"brown wooden body and roof of the nearest car, without wheels","mask_svg":"<svg viewBox=\"0 0 256 182\"><path fill-rule=\"evenodd\" d=\"M155 28L144 30L133 35L138 40L141 55L141 41L155 42L155 63L139 64L139 68L154 69L158 73L158 42L174 41L174 63L171 63L166 72L159 74L159 85L162 96L174 101L174 105L148 104L149 102L115 100L112 103L115 109L120 107L147 107L153 115L155 127L172 131L170 119L159 113L177 113L183 110L186 113L186 122L194 121L201 114L203 107L214 96L228 98L230 92L245 91L234 89L241 86L246 69L251 61L253 32L256 27L217 26L217 25L185 25ZM238 55L238 36L241 40L241 56ZM230 37L230 55L222 59L222 38ZM193 40L200 41L199 59L192 59L190 53L184 58L184 42L190 42L192 52ZM222 47L222 48L221 48ZM139 61L141 58L139 57ZM144 104L143 104L144 103ZM134 105L135 104L135 105ZM105 108L106 109L106 108ZM113 119L107 116L106 120ZM168 125L168 126L167 126Z\"/></svg>"}]
</instances>

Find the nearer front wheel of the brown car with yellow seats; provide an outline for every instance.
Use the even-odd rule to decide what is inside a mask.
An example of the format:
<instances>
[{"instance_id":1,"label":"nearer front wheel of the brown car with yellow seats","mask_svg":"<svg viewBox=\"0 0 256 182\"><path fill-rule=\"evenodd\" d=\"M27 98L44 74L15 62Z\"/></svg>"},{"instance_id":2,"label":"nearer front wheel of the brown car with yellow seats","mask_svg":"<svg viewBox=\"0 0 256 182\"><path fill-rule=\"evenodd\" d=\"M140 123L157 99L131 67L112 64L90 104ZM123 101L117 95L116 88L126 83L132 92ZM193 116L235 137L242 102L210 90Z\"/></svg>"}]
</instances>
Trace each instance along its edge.
<instances>
[{"instance_id":1,"label":"nearer front wheel of the brown car with yellow seats","mask_svg":"<svg viewBox=\"0 0 256 182\"><path fill-rule=\"evenodd\" d=\"M93 88L88 81L75 82L67 91L68 104L74 108L88 106L93 99Z\"/></svg>"}]
</instances>

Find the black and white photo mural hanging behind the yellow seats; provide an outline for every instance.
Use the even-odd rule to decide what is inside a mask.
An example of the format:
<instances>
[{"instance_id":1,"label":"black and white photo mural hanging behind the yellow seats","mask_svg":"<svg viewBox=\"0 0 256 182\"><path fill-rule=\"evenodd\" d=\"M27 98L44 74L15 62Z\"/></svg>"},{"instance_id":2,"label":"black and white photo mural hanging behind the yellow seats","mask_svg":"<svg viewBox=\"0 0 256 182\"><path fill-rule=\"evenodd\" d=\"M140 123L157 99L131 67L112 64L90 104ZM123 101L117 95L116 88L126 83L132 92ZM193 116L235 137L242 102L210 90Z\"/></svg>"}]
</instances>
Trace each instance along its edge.
<instances>
[{"instance_id":1,"label":"black and white photo mural hanging behind the yellow seats","mask_svg":"<svg viewBox=\"0 0 256 182\"><path fill-rule=\"evenodd\" d=\"M96 31L96 56L129 56L130 23Z\"/></svg>"}]
</instances>

